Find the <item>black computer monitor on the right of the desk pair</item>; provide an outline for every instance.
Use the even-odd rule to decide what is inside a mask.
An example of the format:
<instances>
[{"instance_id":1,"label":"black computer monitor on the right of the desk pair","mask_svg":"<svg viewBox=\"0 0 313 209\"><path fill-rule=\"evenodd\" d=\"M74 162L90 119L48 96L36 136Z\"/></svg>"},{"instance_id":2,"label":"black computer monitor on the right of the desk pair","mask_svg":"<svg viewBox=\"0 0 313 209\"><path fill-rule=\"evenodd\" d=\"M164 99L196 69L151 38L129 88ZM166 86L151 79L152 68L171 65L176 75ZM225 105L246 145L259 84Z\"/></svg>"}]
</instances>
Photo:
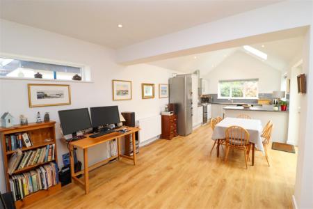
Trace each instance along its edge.
<instances>
[{"instance_id":1,"label":"black computer monitor on the right of the desk pair","mask_svg":"<svg viewBox=\"0 0 313 209\"><path fill-rule=\"evenodd\" d=\"M91 107L90 114L93 127L120 123L118 106Z\"/></svg>"}]
</instances>

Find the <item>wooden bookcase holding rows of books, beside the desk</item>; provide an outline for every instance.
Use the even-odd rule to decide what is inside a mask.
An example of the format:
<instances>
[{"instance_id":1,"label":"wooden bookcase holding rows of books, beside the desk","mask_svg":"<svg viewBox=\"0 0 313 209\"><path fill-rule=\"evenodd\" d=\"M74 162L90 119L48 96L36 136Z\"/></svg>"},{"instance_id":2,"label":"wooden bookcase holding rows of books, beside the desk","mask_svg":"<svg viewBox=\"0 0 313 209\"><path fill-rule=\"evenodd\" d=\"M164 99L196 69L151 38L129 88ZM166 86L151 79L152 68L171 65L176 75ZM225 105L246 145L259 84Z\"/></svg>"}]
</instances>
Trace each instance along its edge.
<instances>
[{"instance_id":1,"label":"wooden bookcase holding rows of books, beside the desk","mask_svg":"<svg viewBox=\"0 0 313 209\"><path fill-rule=\"evenodd\" d=\"M47 123L29 123L29 125L15 125L13 127L0 127L0 139L2 144L2 152L3 152L3 167L4 167L4 174L6 176L6 189L10 191L10 175L8 174L8 161L13 153L16 150L6 150L6 135L10 134L17 134L17 133L24 133L27 132L31 138L33 146L31 147L23 147L20 150L22 152L26 150L33 150L36 148L42 148L47 145L55 144L54 147L54 160L50 160L47 162L42 162L40 164L35 164L29 167L24 167L23 169L17 169L13 172L12 175L17 173L24 173L27 171L31 171L37 167L43 166L45 164L49 164L50 162L58 163L58 155L57 155L57 148L56 148L56 132L55 132L55 125L56 122L50 121ZM31 203L42 199L45 196L49 196L50 194L54 194L61 189L61 183L49 187L49 189L42 189L37 192L33 192L24 197L22 200L15 201L15 206L17 208L22 208L24 206L29 206Z\"/></svg>"}]
</instances>

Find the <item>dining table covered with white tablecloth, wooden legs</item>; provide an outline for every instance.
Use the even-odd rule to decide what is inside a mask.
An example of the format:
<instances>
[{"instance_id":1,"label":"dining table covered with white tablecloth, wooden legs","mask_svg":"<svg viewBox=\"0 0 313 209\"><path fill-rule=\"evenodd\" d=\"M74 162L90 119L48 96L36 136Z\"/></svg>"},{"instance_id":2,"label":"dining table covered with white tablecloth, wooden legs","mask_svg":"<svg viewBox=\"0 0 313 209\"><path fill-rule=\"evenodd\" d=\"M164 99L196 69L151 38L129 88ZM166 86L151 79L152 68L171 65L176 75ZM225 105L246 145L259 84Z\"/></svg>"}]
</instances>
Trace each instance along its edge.
<instances>
[{"instance_id":1,"label":"dining table covered with white tablecloth, wooden legs","mask_svg":"<svg viewBox=\"0 0 313 209\"><path fill-rule=\"evenodd\" d=\"M225 139L225 130L227 127L230 127L232 125L237 125L240 127L245 128L249 134L249 141L252 144L252 165L254 164L255 160L255 148L258 150L261 150L262 153L264 154L264 147L262 143L262 122L260 120L255 120L255 119L245 119L245 118L224 118L220 123L217 123L213 134L212 134L212 139L217 140L217 139ZM219 155L219 143L218 143L218 155Z\"/></svg>"}]
</instances>

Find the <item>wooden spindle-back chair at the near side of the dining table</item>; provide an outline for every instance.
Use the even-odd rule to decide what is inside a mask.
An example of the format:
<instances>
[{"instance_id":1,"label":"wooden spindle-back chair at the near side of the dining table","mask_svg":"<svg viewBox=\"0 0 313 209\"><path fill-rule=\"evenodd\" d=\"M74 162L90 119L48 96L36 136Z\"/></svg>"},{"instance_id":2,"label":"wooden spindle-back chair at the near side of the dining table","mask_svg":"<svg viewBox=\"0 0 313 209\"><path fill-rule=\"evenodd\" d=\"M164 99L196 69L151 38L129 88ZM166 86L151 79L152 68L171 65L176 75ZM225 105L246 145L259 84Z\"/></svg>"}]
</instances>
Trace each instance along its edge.
<instances>
[{"instance_id":1,"label":"wooden spindle-back chair at the near side of the dining table","mask_svg":"<svg viewBox=\"0 0 313 209\"><path fill-rule=\"evenodd\" d=\"M232 125L227 127L225 130L225 141L226 141L226 154L225 154L225 162L227 162L228 153L230 152L230 148L243 150L244 157L246 162L246 169L248 169L248 155L250 153L250 134L243 127Z\"/></svg>"}]
</instances>

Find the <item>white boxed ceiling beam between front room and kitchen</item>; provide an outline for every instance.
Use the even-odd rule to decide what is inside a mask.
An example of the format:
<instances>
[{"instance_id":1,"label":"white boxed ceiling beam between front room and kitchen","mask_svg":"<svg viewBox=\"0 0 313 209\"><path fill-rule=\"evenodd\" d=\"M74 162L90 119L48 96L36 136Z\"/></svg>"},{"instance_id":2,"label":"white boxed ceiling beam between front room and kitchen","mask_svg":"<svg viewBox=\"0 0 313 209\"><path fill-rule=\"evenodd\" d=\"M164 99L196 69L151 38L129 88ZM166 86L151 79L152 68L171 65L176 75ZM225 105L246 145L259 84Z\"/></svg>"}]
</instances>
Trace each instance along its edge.
<instances>
[{"instance_id":1,"label":"white boxed ceiling beam between front room and kitchen","mask_svg":"<svg viewBox=\"0 0 313 209\"><path fill-rule=\"evenodd\" d=\"M284 1L117 50L124 65L300 36L312 25L312 1Z\"/></svg>"}]
</instances>

